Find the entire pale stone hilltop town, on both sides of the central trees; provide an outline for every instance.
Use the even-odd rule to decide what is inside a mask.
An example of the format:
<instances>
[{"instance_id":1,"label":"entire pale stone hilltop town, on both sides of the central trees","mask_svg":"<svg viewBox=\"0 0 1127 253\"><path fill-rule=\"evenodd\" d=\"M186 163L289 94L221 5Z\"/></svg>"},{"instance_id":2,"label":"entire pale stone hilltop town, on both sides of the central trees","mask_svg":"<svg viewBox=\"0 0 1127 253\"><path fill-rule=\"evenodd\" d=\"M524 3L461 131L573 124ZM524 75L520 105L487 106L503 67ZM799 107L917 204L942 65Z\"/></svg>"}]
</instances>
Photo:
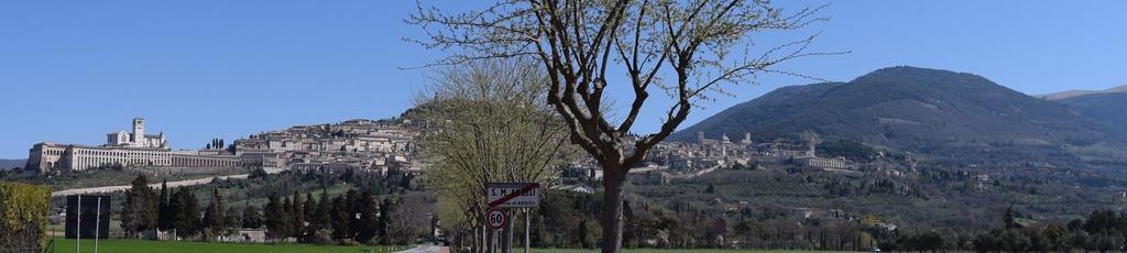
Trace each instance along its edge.
<instances>
[{"instance_id":1,"label":"entire pale stone hilltop town, on both sides of the central trees","mask_svg":"<svg viewBox=\"0 0 1127 253\"><path fill-rule=\"evenodd\" d=\"M421 171L425 164L418 156L418 127L410 119L349 119L263 132L236 139L230 145L223 139L213 139L202 150L172 150L165 133L144 134L145 120L139 117L133 119L132 132L109 133L103 145L35 144L26 168L41 173L101 168L243 168L272 173L285 170L318 173L361 170L381 174L388 170ZM877 157L870 161L819 155L818 139L813 134L805 142L777 139L765 143L754 142L752 133L744 133L739 141L731 141L727 134L720 139L704 136L701 132L696 142L665 142L655 146L645 163L631 170L632 179L644 183L669 183L721 168L780 164L846 174L898 175L915 166L914 161L886 157L884 152L875 153ZM583 159L564 168L560 179L568 184L596 182L602 180L602 171L593 160Z\"/></svg>"}]
</instances>

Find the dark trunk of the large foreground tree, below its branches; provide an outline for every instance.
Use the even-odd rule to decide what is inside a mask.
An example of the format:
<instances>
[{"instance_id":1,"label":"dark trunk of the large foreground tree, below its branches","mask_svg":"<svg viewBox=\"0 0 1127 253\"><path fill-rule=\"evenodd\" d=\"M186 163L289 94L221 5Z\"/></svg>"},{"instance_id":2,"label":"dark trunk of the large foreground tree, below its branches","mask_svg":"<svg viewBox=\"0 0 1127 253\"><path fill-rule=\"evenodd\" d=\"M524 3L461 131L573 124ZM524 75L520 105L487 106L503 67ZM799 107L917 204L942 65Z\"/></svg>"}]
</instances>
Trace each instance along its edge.
<instances>
[{"instance_id":1,"label":"dark trunk of the large foreground tree, below its branches","mask_svg":"<svg viewBox=\"0 0 1127 253\"><path fill-rule=\"evenodd\" d=\"M603 165L603 253L622 252L622 183L625 171Z\"/></svg>"}]
</instances>

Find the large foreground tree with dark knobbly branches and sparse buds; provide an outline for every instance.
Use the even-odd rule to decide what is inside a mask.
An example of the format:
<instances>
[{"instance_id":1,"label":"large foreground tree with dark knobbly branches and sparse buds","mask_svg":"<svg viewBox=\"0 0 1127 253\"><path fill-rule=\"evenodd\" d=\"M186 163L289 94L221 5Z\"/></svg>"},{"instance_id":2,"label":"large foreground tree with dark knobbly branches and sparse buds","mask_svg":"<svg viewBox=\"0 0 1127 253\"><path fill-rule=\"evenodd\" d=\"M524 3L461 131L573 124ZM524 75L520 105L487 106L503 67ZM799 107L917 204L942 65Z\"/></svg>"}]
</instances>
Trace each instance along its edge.
<instances>
[{"instance_id":1,"label":"large foreground tree with dark knobbly branches and sparse buds","mask_svg":"<svg viewBox=\"0 0 1127 253\"><path fill-rule=\"evenodd\" d=\"M603 252L622 246L622 183L646 152L677 129L709 94L725 84L754 83L762 73L806 76L772 69L807 53L816 36L756 47L752 35L791 30L813 21L822 7L787 12L765 0L498 0L481 10L444 12L419 7L407 19L426 31L408 38L450 55L431 65L531 56L548 75L547 103L564 118L570 142L603 168ZM609 70L614 70L610 71ZM623 80L632 99L622 118L611 117L604 97ZM665 91L656 133L633 137L631 128L650 92Z\"/></svg>"}]
</instances>

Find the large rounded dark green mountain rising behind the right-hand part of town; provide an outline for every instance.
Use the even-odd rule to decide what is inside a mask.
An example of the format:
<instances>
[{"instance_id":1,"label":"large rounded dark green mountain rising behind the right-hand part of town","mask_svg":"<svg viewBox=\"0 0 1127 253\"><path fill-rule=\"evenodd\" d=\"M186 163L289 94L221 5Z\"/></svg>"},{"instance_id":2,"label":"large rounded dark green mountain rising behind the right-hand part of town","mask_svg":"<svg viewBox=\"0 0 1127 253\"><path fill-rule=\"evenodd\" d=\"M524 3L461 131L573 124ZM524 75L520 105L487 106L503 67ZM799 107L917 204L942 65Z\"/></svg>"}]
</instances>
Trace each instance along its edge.
<instances>
[{"instance_id":1,"label":"large rounded dark green mountain rising behind the right-hand part of town","mask_svg":"<svg viewBox=\"0 0 1127 253\"><path fill-rule=\"evenodd\" d=\"M780 88L671 139L692 142L698 132L709 138L752 133L758 142L813 132L824 141L858 141L955 162L1077 164L1090 153L1121 151L1127 143L1119 129L1067 106L975 74L913 66L881 69L845 83Z\"/></svg>"}]
</instances>

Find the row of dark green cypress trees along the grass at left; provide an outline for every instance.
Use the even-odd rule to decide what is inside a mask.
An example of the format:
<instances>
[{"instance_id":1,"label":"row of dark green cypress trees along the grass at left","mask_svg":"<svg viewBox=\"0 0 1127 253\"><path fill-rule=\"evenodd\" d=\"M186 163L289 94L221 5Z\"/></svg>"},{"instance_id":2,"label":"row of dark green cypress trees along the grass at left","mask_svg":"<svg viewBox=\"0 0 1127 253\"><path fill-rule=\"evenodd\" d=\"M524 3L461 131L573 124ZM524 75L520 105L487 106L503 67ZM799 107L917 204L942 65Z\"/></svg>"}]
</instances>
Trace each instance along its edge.
<instances>
[{"instance_id":1,"label":"row of dark green cypress trees along the grass at left","mask_svg":"<svg viewBox=\"0 0 1127 253\"><path fill-rule=\"evenodd\" d=\"M157 232L169 236L201 241L215 241L240 229L265 229L273 242L316 244L391 244L412 243L412 233L389 233L391 217L397 211L394 197L378 198L372 190L349 189L331 197L322 187L318 197L313 192L294 190L291 196L269 193L261 207L250 201L239 207L228 207L219 188L211 189L206 206L202 205L189 187L169 189L162 183L159 193L148 187L145 175L137 175L125 192L121 210L122 228L126 237L156 238Z\"/></svg>"}]
</instances>

